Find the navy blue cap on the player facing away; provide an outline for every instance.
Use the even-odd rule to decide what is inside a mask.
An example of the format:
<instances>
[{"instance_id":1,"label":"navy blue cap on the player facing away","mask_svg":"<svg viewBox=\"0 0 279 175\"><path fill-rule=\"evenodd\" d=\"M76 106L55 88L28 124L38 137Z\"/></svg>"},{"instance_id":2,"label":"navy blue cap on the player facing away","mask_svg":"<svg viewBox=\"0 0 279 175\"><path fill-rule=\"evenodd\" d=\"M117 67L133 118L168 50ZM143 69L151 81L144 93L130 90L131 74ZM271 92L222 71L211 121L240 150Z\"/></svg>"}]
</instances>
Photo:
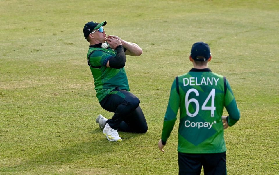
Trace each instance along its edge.
<instances>
[{"instance_id":1,"label":"navy blue cap on the player facing away","mask_svg":"<svg viewBox=\"0 0 279 175\"><path fill-rule=\"evenodd\" d=\"M210 49L208 44L203 42L197 42L192 45L191 57L196 61L206 61L210 58ZM197 58L204 57L204 58Z\"/></svg>"}]
</instances>

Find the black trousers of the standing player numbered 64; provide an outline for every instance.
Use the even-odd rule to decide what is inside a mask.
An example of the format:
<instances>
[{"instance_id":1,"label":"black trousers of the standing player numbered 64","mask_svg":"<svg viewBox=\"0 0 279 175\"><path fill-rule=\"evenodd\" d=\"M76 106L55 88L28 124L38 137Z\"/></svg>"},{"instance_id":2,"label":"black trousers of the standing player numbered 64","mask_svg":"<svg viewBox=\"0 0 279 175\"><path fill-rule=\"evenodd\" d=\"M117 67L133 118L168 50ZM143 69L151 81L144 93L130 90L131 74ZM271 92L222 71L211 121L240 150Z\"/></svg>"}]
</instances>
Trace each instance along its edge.
<instances>
[{"instance_id":1,"label":"black trousers of the standing player numbered 64","mask_svg":"<svg viewBox=\"0 0 279 175\"><path fill-rule=\"evenodd\" d=\"M214 154L187 154L178 152L179 175L226 175L226 152Z\"/></svg>"}]
</instances>

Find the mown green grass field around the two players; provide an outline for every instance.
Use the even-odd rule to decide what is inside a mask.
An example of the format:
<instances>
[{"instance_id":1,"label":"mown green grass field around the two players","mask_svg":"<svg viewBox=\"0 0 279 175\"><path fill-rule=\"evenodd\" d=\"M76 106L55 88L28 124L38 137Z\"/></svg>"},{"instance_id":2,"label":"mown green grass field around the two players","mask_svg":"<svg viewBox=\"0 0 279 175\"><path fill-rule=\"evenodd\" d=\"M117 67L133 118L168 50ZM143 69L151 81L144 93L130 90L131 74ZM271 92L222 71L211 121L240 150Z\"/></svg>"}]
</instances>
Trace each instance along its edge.
<instances>
[{"instance_id":1,"label":"mown green grass field around the two players","mask_svg":"<svg viewBox=\"0 0 279 175\"><path fill-rule=\"evenodd\" d=\"M87 65L88 21L135 42L131 92L149 130L109 142ZM211 47L241 111L225 130L228 174L279 174L279 1L0 1L0 174L178 174L178 121L158 150L175 76L192 68L193 43ZM226 112L224 112L226 114Z\"/></svg>"}]
</instances>

